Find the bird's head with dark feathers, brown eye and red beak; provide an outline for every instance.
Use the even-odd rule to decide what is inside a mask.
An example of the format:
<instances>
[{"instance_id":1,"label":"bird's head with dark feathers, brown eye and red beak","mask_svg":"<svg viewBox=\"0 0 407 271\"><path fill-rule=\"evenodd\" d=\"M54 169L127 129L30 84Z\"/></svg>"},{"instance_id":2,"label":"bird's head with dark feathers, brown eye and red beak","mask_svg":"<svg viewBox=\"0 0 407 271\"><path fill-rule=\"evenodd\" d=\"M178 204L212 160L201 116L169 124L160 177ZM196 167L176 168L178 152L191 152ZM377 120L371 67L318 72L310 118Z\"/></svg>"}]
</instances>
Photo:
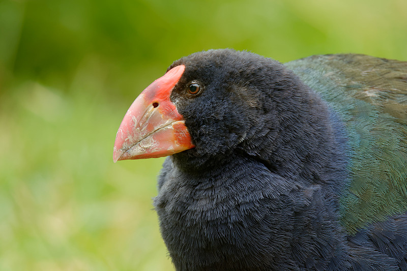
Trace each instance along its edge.
<instances>
[{"instance_id":1,"label":"bird's head with dark feathers, brown eye and red beak","mask_svg":"<svg viewBox=\"0 0 407 271\"><path fill-rule=\"evenodd\" d=\"M196 166L236 150L258 155L265 148L259 138L273 142L280 131L276 99L296 103L286 91L297 83L293 76L277 61L246 51L183 57L130 106L113 160L174 155L183 165ZM267 152L273 146L266 144Z\"/></svg>"}]
</instances>

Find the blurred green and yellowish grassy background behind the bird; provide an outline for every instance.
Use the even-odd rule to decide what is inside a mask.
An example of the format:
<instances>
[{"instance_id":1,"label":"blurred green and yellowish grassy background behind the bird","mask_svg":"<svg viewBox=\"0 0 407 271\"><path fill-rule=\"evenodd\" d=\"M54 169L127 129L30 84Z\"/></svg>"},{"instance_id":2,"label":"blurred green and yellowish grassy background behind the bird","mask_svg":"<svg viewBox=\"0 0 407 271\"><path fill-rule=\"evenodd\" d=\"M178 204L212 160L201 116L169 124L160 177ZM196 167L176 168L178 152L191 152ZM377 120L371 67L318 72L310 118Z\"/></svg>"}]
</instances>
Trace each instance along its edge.
<instances>
[{"instance_id":1,"label":"blurred green and yellowish grassy background behind the bird","mask_svg":"<svg viewBox=\"0 0 407 271\"><path fill-rule=\"evenodd\" d=\"M172 270L163 159L112 162L135 97L195 51L407 60L407 1L0 0L0 270Z\"/></svg>"}]
</instances>

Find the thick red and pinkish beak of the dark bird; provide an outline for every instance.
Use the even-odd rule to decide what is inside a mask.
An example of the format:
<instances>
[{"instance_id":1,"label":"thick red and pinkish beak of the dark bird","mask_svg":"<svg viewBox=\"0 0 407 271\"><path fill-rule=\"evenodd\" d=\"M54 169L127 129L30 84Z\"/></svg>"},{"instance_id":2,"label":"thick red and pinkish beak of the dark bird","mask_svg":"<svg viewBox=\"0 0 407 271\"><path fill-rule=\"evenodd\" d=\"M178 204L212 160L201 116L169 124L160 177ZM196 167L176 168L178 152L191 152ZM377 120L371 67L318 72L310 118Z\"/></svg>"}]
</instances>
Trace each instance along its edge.
<instances>
[{"instance_id":1,"label":"thick red and pinkish beak of the dark bird","mask_svg":"<svg viewBox=\"0 0 407 271\"><path fill-rule=\"evenodd\" d=\"M183 116L169 97L185 66L169 70L134 100L116 135L113 161L157 158L193 148Z\"/></svg>"}]
</instances>

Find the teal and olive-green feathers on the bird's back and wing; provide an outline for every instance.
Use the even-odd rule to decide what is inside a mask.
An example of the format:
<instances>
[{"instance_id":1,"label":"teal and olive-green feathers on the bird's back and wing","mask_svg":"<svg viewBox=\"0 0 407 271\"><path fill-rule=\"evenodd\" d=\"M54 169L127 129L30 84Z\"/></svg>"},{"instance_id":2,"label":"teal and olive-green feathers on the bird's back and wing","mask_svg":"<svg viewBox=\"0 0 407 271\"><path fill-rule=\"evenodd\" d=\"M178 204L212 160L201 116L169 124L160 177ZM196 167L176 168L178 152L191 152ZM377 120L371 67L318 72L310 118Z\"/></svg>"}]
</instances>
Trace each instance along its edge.
<instances>
[{"instance_id":1,"label":"teal and olive-green feathers on the bird's back and wing","mask_svg":"<svg viewBox=\"0 0 407 271\"><path fill-rule=\"evenodd\" d=\"M341 222L355 233L407 210L407 62L360 54L286 64L340 116L350 145Z\"/></svg>"}]
</instances>

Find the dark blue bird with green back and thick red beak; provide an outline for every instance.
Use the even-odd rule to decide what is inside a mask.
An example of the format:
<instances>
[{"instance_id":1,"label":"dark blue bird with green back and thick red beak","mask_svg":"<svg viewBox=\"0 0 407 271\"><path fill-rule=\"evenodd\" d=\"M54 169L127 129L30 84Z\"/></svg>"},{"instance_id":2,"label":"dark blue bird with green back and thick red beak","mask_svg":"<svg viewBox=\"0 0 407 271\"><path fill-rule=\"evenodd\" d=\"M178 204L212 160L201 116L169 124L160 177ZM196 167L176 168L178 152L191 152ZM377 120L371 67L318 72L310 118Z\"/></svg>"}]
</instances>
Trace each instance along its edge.
<instances>
[{"instance_id":1,"label":"dark blue bird with green back and thick red beak","mask_svg":"<svg viewBox=\"0 0 407 271\"><path fill-rule=\"evenodd\" d=\"M154 207L178 271L407 270L407 62L182 57L113 148L165 156Z\"/></svg>"}]
</instances>

